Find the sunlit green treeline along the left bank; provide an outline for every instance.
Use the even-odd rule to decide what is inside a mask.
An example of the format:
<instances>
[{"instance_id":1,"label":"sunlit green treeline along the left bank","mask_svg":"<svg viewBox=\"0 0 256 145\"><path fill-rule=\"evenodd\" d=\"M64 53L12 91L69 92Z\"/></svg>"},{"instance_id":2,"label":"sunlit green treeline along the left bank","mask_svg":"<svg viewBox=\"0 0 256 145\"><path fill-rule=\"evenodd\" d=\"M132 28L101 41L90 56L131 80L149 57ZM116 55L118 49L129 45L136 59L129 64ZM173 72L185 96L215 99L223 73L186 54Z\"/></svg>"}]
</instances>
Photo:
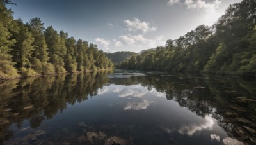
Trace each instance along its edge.
<instances>
[{"instance_id":1,"label":"sunlit green treeline along the left bank","mask_svg":"<svg viewBox=\"0 0 256 145\"><path fill-rule=\"evenodd\" d=\"M97 45L68 38L40 18L24 24L0 3L0 78L113 69L113 63Z\"/></svg>"}]
</instances>

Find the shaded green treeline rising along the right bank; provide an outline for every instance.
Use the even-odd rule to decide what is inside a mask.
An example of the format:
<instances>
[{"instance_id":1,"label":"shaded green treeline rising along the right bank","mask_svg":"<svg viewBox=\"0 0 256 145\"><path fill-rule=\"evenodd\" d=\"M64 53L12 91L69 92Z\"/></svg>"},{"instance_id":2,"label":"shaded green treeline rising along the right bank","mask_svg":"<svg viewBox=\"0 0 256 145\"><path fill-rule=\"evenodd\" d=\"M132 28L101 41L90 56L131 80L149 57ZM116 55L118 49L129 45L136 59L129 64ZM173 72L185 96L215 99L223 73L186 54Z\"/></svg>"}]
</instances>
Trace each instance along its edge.
<instances>
[{"instance_id":1,"label":"shaded green treeline rising along the right bank","mask_svg":"<svg viewBox=\"0 0 256 145\"><path fill-rule=\"evenodd\" d=\"M125 69L207 72L256 77L256 1L230 5L212 26L199 25L156 50L118 64Z\"/></svg>"}]
</instances>

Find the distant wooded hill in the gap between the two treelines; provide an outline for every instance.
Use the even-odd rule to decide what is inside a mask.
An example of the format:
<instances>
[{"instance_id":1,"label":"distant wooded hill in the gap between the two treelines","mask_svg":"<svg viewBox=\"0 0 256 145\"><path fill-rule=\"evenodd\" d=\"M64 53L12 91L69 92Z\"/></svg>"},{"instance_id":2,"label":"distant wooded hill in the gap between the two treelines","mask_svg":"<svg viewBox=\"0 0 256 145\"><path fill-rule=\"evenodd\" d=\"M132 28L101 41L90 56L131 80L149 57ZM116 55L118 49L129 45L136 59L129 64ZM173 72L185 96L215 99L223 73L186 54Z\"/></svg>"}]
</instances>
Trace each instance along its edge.
<instances>
[{"instance_id":1,"label":"distant wooded hill in the gap between the two treelines","mask_svg":"<svg viewBox=\"0 0 256 145\"><path fill-rule=\"evenodd\" d=\"M124 61L125 59L130 59L132 55L138 55L135 52L115 52L115 53L105 53L105 55L112 60L113 63L118 64L119 62Z\"/></svg>"}]
</instances>

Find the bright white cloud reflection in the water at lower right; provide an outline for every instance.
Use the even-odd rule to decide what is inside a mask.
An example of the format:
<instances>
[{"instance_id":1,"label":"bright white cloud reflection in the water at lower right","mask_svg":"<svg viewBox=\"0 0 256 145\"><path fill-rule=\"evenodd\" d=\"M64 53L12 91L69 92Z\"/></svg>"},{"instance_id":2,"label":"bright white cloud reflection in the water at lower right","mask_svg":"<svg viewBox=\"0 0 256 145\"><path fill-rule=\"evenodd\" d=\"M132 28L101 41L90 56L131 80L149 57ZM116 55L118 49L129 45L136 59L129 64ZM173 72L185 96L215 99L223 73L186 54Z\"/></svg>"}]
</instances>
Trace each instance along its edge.
<instances>
[{"instance_id":1,"label":"bright white cloud reflection in the water at lower right","mask_svg":"<svg viewBox=\"0 0 256 145\"><path fill-rule=\"evenodd\" d=\"M212 130L214 125L214 119L211 116L205 116L204 122L200 125L186 125L179 128L180 134L193 135L195 132L200 132L201 130Z\"/></svg>"}]
</instances>

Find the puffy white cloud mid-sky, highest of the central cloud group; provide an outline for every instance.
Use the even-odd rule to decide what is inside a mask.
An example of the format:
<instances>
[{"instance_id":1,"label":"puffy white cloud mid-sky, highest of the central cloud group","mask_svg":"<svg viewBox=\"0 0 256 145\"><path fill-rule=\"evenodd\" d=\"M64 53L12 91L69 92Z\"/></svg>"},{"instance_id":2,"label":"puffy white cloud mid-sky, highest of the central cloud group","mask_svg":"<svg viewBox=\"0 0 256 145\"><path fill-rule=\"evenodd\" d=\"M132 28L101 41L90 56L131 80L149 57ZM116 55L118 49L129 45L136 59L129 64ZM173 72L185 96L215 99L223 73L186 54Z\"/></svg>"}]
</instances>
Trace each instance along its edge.
<instances>
[{"instance_id":1,"label":"puffy white cloud mid-sky, highest of the central cloud group","mask_svg":"<svg viewBox=\"0 0 256 145\"><path fill-rule=\"evenodd\" d=\"M133 18L133 20L124 20L126 26L128 27L128 31L137 31L140 30L143 33L149 31L156 31L157 27L150 27L148 22L141 22L138 18Z\"/></svg>"}]
</instances>

